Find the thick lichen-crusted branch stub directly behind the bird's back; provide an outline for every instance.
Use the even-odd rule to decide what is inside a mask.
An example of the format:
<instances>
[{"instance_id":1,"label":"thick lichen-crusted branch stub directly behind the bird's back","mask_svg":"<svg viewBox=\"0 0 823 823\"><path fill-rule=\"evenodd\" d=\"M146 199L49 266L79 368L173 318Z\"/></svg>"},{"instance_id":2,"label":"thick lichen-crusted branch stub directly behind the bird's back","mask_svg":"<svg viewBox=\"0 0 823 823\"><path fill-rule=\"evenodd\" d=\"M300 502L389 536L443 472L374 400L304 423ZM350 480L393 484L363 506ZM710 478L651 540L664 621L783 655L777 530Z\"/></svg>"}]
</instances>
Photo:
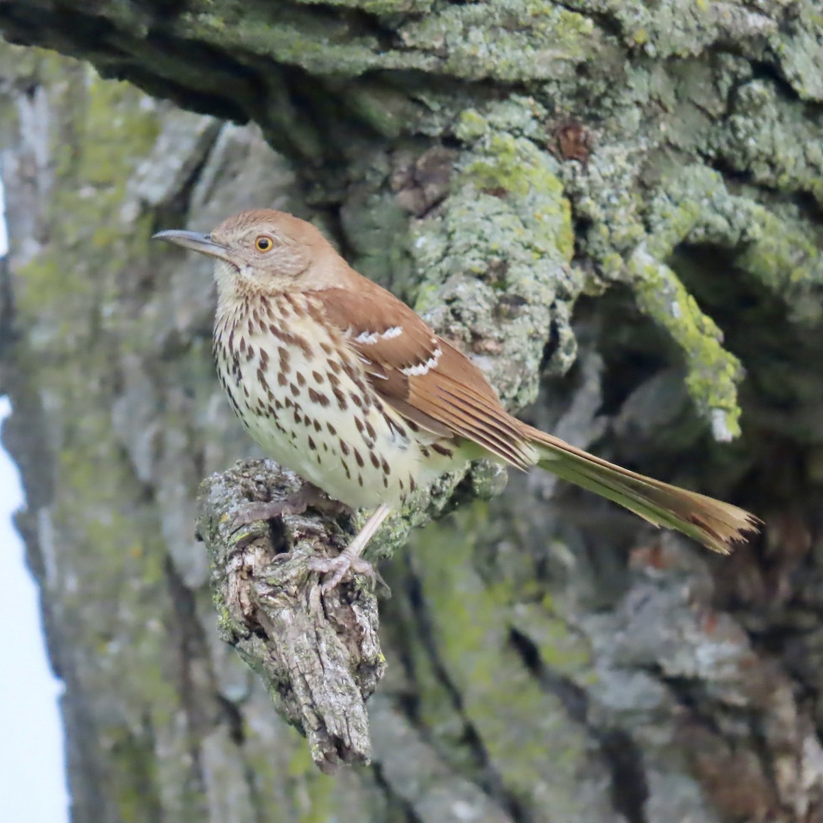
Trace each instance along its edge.
<instances>
[{"instance_id":1,"label":"thick lichen-crusted branch stub directly behind the bird's back","mask_svg":"<svg viewBox=\"0 0 823 823\"><path fill-rule=\"evenodd\" d=\"M526 98L464 111L455 135L465 147L449 198L416 224L412 239L425 273L416 308L458 337L513 407L536 396L551 324L565 322L556 303L573 303L582 283L570 265L570 206L556 160L532 140L541 116ZM566 339L557 356L564 366L574 360Z\"/></svg>"}]
</instances>

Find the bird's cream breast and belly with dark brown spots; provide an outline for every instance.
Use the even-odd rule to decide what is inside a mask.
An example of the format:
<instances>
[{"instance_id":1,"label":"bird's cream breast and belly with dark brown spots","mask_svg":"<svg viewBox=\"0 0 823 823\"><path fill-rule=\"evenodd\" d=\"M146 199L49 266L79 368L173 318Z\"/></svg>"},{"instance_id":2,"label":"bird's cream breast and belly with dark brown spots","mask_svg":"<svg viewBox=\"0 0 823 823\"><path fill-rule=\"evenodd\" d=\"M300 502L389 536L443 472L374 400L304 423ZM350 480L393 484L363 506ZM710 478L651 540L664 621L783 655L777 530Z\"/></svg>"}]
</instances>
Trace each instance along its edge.
<instances>
[{"instance_id":1,"label":"bird's cream breast and belly with dark brown spots","mask_svg":"<svg viewBox=\"0 0 823 823\"><path fill-rule=\"evenodd\" d=\"M350 506L397 503L421 473L443 472L451 449L374 392L351 332L319 322L323 313L310 295L224 302L214 333L221 384L278 463ZM426 470L433 450L443 465Z\"/></svg>"}]
</instances>

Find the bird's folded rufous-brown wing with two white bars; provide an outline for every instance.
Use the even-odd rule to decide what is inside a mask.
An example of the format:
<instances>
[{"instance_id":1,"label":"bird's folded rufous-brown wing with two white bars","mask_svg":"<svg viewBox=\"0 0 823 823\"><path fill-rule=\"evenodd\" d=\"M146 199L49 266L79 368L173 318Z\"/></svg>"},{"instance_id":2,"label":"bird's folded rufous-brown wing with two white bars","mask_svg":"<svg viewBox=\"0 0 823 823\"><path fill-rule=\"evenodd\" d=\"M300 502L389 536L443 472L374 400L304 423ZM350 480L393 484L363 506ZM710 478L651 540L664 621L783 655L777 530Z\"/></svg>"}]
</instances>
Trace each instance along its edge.
<instances>
[{"instance_id":1,"label":"bird's folded rufous-brown wing with two white bars","mask_svg":"<svg viewBox=\"0 0 823 823\"><path fill-rule=\"evenodd\" d=\"M374 391L425 430L473 440L520 468L532 465L519 422L481 370L401 300L365 278L362 283L360 291L329 288L313 296L346 335Z\"/></svg>"}]
</instances>

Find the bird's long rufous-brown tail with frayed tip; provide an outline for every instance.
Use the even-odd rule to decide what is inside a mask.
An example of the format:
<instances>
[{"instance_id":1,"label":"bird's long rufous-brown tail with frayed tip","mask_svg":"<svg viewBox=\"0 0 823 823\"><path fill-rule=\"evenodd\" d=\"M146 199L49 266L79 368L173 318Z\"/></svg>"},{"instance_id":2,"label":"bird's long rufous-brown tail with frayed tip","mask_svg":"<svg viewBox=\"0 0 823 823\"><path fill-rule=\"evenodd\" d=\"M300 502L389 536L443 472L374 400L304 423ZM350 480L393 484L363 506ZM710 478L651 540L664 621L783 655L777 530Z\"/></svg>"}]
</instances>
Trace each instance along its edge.
<instances>
[{"instance_id":1,"label":"bird's long rufous-brown tail with frayed tip","mask_svg":"<svg viewBox=\"0 0 823 823\"><path fill-rule=\"evenodd\" d=\"M540 467L625 506L655 526L677 529L724 555L733 542L746 541L746 532L758 531L760 520L744 509L630 472L525 423L521 427L540 455Z\"/></svg>"}]
</instances>

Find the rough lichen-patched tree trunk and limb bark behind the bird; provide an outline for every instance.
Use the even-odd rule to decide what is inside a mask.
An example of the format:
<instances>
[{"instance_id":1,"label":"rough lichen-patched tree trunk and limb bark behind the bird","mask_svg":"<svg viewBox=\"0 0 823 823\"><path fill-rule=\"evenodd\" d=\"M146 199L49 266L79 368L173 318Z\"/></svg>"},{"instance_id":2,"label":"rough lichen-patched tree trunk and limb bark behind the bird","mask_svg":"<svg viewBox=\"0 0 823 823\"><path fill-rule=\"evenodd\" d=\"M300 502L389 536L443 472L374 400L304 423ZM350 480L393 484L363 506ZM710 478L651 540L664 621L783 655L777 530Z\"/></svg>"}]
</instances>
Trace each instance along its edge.
<instances>
[{"instance_id":1,"label":"rough lichen-patched tree trunk and limb bark behind the bird","mask_svg":"<svg viewBox=\"0 0 823 823\"><path fill-rule=\"evenodd\" d=\"M75 823L823 821L819 2L7 0L0 30L72 55L0 51L0 392ZM477 467L381 567L372 765L320 774L218 638L198 483L255 452L209 264L148 242L251 205L764 539L709 557L543 475L465 502Z\"/></svg>"}]
</instances>

